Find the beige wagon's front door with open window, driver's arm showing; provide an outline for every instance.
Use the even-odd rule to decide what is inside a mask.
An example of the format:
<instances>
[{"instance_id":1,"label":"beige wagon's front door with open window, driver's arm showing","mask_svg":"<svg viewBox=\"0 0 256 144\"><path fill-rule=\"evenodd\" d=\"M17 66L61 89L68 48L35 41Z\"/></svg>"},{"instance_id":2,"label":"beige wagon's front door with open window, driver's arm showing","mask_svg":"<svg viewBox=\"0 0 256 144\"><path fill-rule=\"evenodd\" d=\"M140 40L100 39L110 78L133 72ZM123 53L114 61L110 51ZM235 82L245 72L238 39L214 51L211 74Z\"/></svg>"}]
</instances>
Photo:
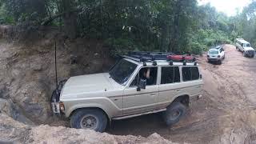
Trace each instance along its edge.
<instances>
[{"instance_id":1,"label":"beige wagon's front door with open window, driver's arm showing","mask_svg":"<svg viewBox=\"0 0 256 144\"><path fill-rule=\"evenodd\" d=\"M147 81L145 90L141 89L138 91L138 79L142 78L143 71L150 71L148 75L151 79ZM155 104L158 98L157 78L158 67L144 67L139 70L134 81L124 90L123 115L141 114L155 110Z\"/></svg>"}]
</instances>

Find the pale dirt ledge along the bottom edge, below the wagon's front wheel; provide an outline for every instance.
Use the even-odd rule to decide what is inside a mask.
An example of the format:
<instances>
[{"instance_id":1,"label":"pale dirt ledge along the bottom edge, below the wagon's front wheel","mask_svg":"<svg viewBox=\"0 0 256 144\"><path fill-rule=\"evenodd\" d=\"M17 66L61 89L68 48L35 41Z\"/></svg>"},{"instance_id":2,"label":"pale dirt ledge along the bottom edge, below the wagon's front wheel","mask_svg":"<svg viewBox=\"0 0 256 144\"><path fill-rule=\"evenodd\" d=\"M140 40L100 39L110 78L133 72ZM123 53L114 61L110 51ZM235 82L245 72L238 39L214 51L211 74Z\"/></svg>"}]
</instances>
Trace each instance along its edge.
<instances>
[{"instance_id":1,"label":"pale dirt ledge along the bottom edge, below the wagon's front wheel","mask_svg":"<svg viewBox=\"0 0 256 144\"><path fill-rule=\"evenodd\" d=\"M93 130L75 130L66 127L28 126L14 121L14 119L5 114L0 114L0 134L0 143L173 143L158 134L143 138L132 135L100 134Z\"/></svg>"}]
</instances>

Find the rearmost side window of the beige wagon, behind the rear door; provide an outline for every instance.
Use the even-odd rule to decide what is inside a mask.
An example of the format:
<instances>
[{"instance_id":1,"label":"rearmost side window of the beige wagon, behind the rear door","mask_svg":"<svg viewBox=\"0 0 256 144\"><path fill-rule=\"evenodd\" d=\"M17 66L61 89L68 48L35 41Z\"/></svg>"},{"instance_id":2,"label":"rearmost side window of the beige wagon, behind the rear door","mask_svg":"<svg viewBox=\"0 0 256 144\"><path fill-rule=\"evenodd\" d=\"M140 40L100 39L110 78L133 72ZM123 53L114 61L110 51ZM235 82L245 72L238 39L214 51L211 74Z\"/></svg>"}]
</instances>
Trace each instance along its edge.
<instances>
[{"instance_id":1,"label":"rearmost side window of the beige wagon, behind the rear door","mask_svg":"<svg viewBox=\"0 0 256 144\"><path fill-rule=\"evenodd\" d=\"M198 67L182 67L183 82L199 79Z\"/></svg>"}]
</instances>

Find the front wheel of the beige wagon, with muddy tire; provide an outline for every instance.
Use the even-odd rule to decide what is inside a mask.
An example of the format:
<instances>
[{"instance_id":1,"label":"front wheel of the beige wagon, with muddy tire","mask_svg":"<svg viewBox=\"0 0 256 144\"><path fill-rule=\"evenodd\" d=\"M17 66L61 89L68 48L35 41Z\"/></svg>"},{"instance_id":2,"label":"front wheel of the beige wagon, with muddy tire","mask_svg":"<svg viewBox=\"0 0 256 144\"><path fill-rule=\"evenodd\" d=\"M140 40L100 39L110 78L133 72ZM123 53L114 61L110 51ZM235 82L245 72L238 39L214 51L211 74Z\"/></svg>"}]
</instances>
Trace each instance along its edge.
<instances>
[{"instance_id":1,"label":"front wheel of the beige wagon, with muddy tire","mask_svg":"<svg viewBox=\"0 0 256 144\"><path fill-rule=\"evenodd\" d=\"M88 119L90 119L90 123L92 124L88 125ZM70 126L76 129L90 129L104 132L106 125L106 114L98 109L77 110L70 118Z\"/></svg>"}]
</instances>

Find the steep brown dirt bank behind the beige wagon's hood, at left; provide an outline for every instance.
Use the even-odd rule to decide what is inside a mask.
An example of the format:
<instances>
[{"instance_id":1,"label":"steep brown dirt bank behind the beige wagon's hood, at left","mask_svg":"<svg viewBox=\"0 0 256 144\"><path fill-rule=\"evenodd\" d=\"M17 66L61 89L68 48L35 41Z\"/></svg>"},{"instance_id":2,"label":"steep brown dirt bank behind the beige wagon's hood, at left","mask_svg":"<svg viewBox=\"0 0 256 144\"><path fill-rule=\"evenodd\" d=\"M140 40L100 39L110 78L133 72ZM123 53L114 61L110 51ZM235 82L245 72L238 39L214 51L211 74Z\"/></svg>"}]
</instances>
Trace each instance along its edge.
<instances>
[{"instance_id":1,"label":"steep brown dirt bank behind the beige wagon's hood, at left","mask_svg":"<svg viewBox=\"0 0 256 144\"><path fill-rule=\"evenodd\" d=\"M102 72L113 63L100 40L70 40L46 27L23 31L0 26L0 32L0 98L13 102L19 113L35 123L53 121L50 96L55 88L55 42L58 80Z\"/></svg>"}]
</instances>

